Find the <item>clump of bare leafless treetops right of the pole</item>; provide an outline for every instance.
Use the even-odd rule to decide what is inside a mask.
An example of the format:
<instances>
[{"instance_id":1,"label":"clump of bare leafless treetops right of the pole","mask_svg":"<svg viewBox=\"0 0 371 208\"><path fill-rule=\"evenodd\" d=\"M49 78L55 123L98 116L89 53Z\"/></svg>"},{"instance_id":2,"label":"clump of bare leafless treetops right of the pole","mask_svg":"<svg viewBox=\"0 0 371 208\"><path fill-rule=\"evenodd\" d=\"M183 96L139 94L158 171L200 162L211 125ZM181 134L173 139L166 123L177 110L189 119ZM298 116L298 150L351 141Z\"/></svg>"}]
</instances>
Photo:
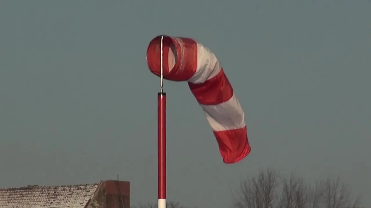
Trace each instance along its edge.
<instances>
[{"instance_id":1,"label":"clump of bare leafless treetops right of the pole","mask_svg":"<svg viewBox=\"0 0 371 208\"><path fill-rule=\"evenodd\" d=\"M314 185L291 174L285 178L275 170L260 171L241 183L234 193L233 208L357 208L351 191L340 179Z\"/></svg>"}]
</instances>

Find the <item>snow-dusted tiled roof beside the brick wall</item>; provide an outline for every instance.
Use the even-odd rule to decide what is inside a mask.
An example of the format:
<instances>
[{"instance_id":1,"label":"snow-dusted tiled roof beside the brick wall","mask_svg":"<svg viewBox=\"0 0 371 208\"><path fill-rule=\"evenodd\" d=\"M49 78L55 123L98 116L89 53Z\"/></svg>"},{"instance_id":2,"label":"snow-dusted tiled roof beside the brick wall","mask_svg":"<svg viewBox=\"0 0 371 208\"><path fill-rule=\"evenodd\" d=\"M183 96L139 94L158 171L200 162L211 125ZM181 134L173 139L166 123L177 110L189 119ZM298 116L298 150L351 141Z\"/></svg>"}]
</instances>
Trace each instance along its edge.
<instances>
[{"instance_id":1,"label":"snow-dusted tiled roof beside the brick wall","mask_svg":"<svg viewBox=\"0 0 371 208\"><path fill-rule=\"evenodd\" d=\"M99 184L0 189L0 208L84 208Z\"/></svg>"}]
</instances>

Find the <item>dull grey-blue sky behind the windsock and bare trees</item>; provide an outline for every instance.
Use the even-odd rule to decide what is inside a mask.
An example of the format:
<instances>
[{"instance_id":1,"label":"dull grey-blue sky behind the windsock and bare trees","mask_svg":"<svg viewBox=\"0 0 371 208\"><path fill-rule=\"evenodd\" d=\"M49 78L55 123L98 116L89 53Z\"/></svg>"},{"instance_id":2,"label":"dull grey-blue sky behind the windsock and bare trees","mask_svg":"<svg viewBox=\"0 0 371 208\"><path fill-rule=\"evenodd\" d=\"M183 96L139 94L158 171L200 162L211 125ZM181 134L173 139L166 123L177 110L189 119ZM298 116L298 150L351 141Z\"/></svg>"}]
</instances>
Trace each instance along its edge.
<instances>
[{"instance_id":1,"label":"dull grey-blue sky behind the windsock and bare trees","mask_svg":"<svg viewBox=\"0 0 371 208\"><path fill-rule=\"evenodd\" d=\"M250 155L227 165L187 83L165 81L167 198L223 208L262 168L341 177L371 206L371 2L0 2L0 187L131 182L157 201L157 93L146 50L191 37L246 113Z\"/></svg>"}]
</instances>

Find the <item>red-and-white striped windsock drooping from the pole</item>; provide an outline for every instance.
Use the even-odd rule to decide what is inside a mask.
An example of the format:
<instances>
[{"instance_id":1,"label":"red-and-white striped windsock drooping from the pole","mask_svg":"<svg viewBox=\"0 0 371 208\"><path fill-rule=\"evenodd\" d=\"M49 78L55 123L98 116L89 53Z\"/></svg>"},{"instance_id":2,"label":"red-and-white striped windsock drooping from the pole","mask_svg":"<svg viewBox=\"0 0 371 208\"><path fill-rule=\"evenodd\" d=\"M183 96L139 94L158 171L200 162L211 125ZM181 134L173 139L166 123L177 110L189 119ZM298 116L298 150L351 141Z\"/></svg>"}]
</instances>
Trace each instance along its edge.
<instances>
[{"instance_id":1,"label":"red-and-white striped windsock drooping from the pole","mask_svg":"<svg viewBox=\"0 0 371 208\"><path fill-rule=\"evenodd\" d=\"M150 71L161 76L161 37L147 49ZM251 151L245 114L214 53L193 39L163 37L163 78L187 81L194 97L206 113L219 144L223 162L230 164Z\"/></svg>"}]
</instances>

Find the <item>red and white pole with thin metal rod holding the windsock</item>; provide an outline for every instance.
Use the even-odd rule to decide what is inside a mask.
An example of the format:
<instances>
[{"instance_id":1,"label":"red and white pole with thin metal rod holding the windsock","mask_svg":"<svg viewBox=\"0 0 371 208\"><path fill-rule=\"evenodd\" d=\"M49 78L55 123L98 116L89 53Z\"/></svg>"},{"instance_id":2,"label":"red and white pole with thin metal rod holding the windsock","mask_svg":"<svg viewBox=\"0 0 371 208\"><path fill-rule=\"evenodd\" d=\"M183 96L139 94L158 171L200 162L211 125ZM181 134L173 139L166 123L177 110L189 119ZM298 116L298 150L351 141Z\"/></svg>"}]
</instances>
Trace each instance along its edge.
<instances>
[{"instance_id":1,"label":"red and white pole with thin metal rod holding the windsock","mask_svg":"<svg viewBox=\"0 0 371 208\"><path fill-rule=\"evenodd\" d=\"M161 89L157 94L157 194L158 208L166 208L166 93L163 77L163 38L161 37Z\"/></svg>"}]
</instances>

